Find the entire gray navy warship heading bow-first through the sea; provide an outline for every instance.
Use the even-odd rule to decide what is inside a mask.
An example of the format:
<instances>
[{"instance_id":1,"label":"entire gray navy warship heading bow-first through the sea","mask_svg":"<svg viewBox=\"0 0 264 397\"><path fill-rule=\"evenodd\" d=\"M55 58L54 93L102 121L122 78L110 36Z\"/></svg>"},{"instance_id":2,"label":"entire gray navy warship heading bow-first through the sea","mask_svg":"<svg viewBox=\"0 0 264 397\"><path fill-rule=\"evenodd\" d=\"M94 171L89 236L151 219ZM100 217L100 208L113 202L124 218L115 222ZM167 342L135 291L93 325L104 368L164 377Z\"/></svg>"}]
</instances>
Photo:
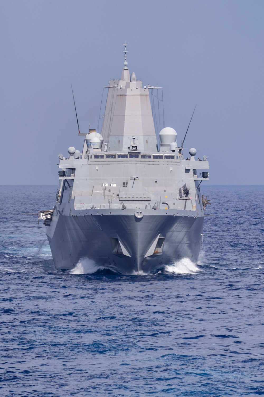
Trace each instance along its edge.
<instances>
[{"instance_id":1,"label":"entire gray navy warship heading bow-first through the sea","mask_svg":"<svg viewBox=\"0 0 264 397\"><path fill-rule=\"evenodd\" d=\"M109 81L101 133L79 129L82 152L71 146L67 158L59 154L55 205L39 212L58 270L84 258L122 274L198 261L207 157L196 160L191 148L184 159L184 140L178 146L171 127L156 133L150 90L157 87L130 75L123 45L122 75Z\"/></svg>"}]
</instances>

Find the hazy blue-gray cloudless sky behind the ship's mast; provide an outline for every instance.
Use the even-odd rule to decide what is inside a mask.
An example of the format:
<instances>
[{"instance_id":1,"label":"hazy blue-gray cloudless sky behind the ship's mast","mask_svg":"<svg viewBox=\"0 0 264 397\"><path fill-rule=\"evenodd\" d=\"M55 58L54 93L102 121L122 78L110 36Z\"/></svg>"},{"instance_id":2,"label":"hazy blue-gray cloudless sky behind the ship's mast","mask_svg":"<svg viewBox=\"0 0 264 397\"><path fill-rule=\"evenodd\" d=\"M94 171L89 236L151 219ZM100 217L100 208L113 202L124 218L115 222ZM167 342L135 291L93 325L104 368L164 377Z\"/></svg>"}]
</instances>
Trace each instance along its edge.
<instances>
[{"instance_id":1,"label":"hazy blue-gray cloudless sky behind the ship's mast","mask_svg":"<svg viewBox=\"0 0 264 397\"><path fill-rule=\"evenodd\" d=\"M57 184L58 154L84 138L70 83L81 132L96 128L126 40L178 142L197 103L184 147L209 156L209 183L263 185L263 17L263 0L0 1L0 184Z\"/></svg>"}]
</instances>

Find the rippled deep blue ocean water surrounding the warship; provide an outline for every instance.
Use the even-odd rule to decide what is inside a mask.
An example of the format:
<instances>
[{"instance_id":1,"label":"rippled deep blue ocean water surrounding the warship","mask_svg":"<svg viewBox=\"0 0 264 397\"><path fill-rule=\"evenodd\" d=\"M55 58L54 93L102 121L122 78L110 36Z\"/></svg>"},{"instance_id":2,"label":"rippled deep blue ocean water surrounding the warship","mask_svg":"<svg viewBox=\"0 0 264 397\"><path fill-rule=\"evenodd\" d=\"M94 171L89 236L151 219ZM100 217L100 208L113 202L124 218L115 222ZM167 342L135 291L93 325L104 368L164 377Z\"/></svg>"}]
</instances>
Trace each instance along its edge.
<instances>
[{"instance_id":1,"label":"rippled deep blue ocean water surrounding the warship","mask_svg":"<svg viewBox=\"0 0 264 397\"><path fill-rule=\"evenodd\" d=\"M56 271L44 225L56 186L1 186L0 395L264 394L263 186L203 187L198 264L122 276Z\"/></svg>"}]
</instances>

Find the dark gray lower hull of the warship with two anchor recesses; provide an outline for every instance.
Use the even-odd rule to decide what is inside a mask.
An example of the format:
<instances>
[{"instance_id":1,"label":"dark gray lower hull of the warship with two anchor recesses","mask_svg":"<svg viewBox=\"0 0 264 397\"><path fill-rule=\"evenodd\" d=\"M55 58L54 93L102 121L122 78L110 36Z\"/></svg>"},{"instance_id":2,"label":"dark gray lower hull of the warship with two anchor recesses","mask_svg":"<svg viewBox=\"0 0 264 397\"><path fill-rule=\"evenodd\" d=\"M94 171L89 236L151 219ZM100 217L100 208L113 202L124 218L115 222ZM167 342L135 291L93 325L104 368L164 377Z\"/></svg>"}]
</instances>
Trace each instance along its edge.
<instances>
[{"instance_id":1,"label":"dark gray lower hull of the warship with two anchor recesses","mask_svg":"<svg viewBox=\"0 0 264 397\"><path fill-rule=\"evenodd\" d=\"M53 218L47 237L56 269L72 269L83 258L122 274L150 273L181 258L197 263L203 216L144 210L137 218L135 210L97 211Z\"/></svg>"}]
</instances>

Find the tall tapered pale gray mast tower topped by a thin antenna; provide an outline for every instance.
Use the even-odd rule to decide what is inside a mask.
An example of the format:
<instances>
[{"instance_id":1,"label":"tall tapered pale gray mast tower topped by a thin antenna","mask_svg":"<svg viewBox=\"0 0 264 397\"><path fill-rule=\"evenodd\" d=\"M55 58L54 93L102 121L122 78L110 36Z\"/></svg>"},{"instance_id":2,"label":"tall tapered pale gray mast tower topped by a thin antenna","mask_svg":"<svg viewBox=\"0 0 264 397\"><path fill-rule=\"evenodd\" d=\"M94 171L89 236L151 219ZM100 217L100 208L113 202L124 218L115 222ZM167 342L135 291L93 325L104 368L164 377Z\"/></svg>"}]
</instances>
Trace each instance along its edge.
<instances>
[{"instance_id":1,"label":"tall tapered pale gray mast tower topped by a thin antenna","mask_svg":"<svg viewBox=\"0 0 264 397\"><path fill-rule=\"evenodd\" d=\"M148 87L142 87L135 73L130 76L127 43L123 44L125 60L120 80L111 80L101 135L109 150L123 151L134 141L138 150L156 152L155 133Z\"/></svg>"}]
</instances>

